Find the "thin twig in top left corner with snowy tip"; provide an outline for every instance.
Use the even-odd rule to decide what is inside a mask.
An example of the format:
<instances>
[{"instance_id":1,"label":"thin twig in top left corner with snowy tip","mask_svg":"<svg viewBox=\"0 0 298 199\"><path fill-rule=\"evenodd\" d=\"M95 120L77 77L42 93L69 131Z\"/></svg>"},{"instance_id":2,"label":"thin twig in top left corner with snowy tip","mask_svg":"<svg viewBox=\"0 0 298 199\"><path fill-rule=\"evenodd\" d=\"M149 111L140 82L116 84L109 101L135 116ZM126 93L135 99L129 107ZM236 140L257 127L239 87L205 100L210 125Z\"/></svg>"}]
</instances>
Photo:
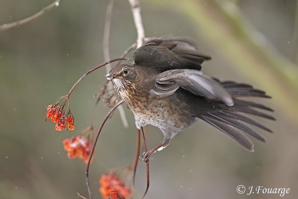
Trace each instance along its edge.
<instances>
[{"instance_id":1,"label":"thin twig in top left corner with snowy tip","mask_svg":"<svg viewBox=\"0 0 298 199\"><path fill-rule=\"evenodd\" d=\"M28 17L28 18L24 18L20 21L15 21L15 22L12 22L10 24L2 24L2 25L0 25L0 31L8 30L8 29L14 28L14 27L19 27L21 25L24 25L24 24L30 22L30 21L33 21L34 19L36 19L36 18L40 17L41 15L47 13L52 8L58 7L61 1L62 0L54 1L52 4L48 5L47 7L44 7L38 13L36 13L36 14L34 14L34 15Z\"/></svg>"}]
</instances>

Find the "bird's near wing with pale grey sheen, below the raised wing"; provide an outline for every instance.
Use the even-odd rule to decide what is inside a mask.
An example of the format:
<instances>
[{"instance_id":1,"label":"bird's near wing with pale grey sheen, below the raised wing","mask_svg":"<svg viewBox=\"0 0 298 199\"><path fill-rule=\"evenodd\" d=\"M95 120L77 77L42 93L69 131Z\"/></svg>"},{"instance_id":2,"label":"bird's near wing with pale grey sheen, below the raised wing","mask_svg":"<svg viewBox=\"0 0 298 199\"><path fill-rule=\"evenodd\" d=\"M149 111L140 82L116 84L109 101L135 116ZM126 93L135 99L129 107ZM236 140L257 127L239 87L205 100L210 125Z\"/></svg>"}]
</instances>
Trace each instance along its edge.
<instances>
[{"instance_id":1,"label":"bird's near wing with pale grey sheen, below the raised wing","mask_svg":"<svg viewBox=\"0 0 298 199\"><path fill-rule=\"evenodd\" d=\"M179 87L209 99L217 99L227 106L233 106L231 95L221 84L199 70L167 70L156 77L151 92L156 95L172 95Z\"/></svg>"}]
</instances>

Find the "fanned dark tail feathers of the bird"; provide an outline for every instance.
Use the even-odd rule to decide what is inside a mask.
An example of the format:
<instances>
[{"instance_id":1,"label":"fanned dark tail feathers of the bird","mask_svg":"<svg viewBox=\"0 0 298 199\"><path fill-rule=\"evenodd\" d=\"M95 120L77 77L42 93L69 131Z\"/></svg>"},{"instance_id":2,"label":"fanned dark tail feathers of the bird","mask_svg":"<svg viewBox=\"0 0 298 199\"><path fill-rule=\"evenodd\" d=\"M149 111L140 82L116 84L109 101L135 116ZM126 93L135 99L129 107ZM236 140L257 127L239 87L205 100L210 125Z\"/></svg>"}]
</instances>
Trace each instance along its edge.
<instances>
[{"instance_id":1,"label":"fanned dark tail feathers of the bird","mask_svg":"<svg viewBox=\"0 0 298 199\"><path fill-rule=\"evenodd\" d=\"M216 104L215 106L213 104L212 107L207 109L207 111L205 111L204 113L201 113L198 117L229 135L244 148L250 151L254 151L253 143L245 135L238 132L237 129L240 129L241 131L247 133L248 135L251 135L252 137L262 142L266 142L266 139L262 135L258 134L253 129L248 127L246 124L252 124L268 132L272 132L272 130L241 113L248 113L270 120L275 120L275 118L271 115L260 111L266 110L273 112L273 109L266 107L263 104L238 99L238 97L271 97L266 95L266 92L254 89L249 84L238 84L234 81L221 82L218 79L215 80L218 81L227 92L229 92L229 94L233 98L234 105L229 107L226 106L224 103L218 102L218 104Z\"/></svg>"}]
</instances>

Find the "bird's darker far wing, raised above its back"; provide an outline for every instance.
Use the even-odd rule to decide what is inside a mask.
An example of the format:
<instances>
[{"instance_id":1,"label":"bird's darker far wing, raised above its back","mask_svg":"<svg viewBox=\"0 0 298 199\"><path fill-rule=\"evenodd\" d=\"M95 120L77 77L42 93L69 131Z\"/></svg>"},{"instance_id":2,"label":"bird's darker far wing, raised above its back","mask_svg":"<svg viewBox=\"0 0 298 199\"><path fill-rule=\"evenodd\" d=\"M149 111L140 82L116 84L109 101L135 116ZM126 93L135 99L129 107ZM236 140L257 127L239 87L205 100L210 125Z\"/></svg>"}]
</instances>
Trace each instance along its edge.
<instances>
[{"instance_id":1,"label":"bird's darker far wing, raised above its back","mask_svg":"<svg viewBox=\"0 0 298 199\"><path fill-rule=\"evenodd\" d=\"M153 38L134 52L134 65L161 71L183 68L201 70L201 64L209 59L211 57L200 53L193 42L178 37Z\"/></svg>"}]
</instances>

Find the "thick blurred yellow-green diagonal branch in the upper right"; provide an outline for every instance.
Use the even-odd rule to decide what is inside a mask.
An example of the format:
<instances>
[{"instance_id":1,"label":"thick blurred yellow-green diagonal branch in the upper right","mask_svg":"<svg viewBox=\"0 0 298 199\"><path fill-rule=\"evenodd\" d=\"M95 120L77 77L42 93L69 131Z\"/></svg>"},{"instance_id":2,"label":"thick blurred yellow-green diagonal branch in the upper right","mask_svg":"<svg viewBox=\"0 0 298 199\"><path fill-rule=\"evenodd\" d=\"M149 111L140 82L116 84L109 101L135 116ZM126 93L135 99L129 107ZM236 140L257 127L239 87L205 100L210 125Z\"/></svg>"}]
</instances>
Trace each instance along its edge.
<instances>
[{"instance_id":1,"label":"thick blurred yellow-green diagonal branch in the upper right","mask_svg":"<svg viewBox=\"0 0 298 199\"><path fill-rule=\"evenodd\" d=\"M292 86L298 89L298 70L297 66L292 64L287 58L282 56L279 52L274 51L273 45L266 39L262 33L258 32L244 16L241 15L240 10L231 1L213 0L218 6L221 14L226 17L227 21L232 26L233 31L237 37L246 43L263 60L267 62L274 70ZM298 14L297 14L298 15ZM297 22L298 20L296 20Z\"/></svg>"}]
</instances>

